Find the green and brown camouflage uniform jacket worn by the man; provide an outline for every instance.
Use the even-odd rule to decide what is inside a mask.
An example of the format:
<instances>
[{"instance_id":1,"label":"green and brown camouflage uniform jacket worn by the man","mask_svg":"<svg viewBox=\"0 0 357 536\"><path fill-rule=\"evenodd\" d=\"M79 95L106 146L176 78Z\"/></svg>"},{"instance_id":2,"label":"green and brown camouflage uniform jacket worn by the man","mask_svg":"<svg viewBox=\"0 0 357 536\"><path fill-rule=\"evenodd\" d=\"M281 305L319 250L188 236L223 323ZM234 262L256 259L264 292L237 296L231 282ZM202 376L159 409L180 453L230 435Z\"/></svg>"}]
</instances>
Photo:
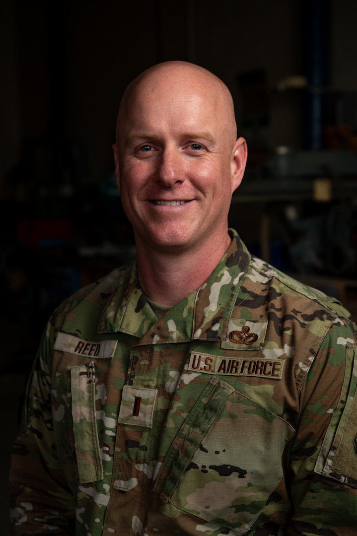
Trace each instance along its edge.
<instances>
[{"instance_id":1,"label":"green and brown camouflage uniform jacket worn by the man","mask_svg":"<svg viewBox=\"0 0 357 536\"><path fill-rule=\"evenodd\" d=\"M357 533L355 326L232 234L160 319L135 265L56 310L14 446L14 535Z\"/></svg>"}]
</instances>

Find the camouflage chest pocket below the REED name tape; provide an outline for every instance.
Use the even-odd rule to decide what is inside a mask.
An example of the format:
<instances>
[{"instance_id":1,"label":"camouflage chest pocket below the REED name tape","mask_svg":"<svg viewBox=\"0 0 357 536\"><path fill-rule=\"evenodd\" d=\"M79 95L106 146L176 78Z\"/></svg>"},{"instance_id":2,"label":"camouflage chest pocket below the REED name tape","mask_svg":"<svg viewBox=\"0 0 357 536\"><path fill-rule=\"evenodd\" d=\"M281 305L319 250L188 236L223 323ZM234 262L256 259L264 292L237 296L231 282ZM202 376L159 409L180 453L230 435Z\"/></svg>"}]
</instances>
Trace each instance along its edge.
<instances>
[{"instance_id":1,"label":"camouflage chest pocket below the REED name tape","mask_svg":"<svg viewBox=\"0 0 357 536\"><path fill-rule=\"evenodd\" d=\"M95 412L94 362L78 364L52 382L58 456L69 484L103 478Z\"/></svg>"}]
</instances>

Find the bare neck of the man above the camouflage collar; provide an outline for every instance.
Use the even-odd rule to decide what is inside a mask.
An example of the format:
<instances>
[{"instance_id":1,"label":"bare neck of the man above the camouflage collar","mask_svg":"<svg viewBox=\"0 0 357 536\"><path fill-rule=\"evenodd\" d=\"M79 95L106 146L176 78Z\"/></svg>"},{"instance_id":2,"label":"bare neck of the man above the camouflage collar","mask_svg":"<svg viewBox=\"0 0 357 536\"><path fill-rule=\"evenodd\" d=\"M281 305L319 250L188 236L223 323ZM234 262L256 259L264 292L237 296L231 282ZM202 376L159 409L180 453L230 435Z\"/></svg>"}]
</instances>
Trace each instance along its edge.
<instances>
[{"instance_id":1,"label":"bare neck of the man above the camouflage collar","mask_svg":"<svg viewBox=\"0 0 357 536\"><path fill-rule=\"evenodd\" d=\"M227 233L215 247L207 243L194 252L174 254L137 242L138 276L144 294L155 303L174 306L203 285L225 254L230 240Z\"/></svg>"}]
</instances>

